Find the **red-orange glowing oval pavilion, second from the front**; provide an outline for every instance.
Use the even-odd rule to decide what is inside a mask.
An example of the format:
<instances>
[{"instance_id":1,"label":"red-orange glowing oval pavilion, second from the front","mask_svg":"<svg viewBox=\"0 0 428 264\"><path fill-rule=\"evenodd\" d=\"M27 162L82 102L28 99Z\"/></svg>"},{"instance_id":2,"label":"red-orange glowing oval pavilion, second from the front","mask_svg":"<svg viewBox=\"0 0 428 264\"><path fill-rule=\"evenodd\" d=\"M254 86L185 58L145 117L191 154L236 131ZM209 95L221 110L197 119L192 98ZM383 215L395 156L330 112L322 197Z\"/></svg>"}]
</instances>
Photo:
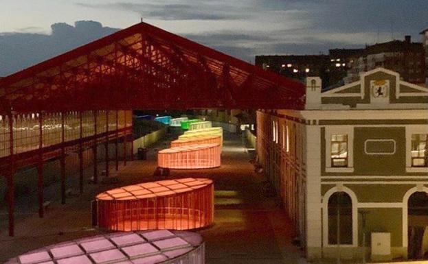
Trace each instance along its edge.
<instances>
[{"instance_id":1,"label":"red-orange glowing oval pavilion, second from the front","mask_svg":"<svg viewBox=\"0 0 428 264\"><path fill-rule=\"evenodd\" d=\"M146 182L100 193L98 226L108 230L174 229L214 221L214 183L204 178Z\"/></svg>"}]
</instances>

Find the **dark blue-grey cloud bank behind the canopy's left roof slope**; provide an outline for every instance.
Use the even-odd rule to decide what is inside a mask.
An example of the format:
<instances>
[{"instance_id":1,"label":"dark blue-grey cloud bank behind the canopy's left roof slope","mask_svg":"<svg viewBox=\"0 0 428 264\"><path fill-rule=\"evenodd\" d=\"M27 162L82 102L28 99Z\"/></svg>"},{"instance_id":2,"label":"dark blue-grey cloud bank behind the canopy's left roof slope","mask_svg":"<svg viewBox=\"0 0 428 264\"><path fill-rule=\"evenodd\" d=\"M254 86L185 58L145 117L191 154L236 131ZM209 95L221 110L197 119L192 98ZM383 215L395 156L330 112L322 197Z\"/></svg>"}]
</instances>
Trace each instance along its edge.
<instances>
[{"instance_id":1,"label":"dark blue-grey cloud bank behind the canopy's left roof slope","mask_svg":"<svg viewBox=\"0 0 428 264\"><path fill-rule=\"evenodd\" d=\"M102 38L118 29L94 21L77 21L74 26L56 23L52 34L0 34L0 76L9 75L60 53Z\"/></svg>"}]
</instances>

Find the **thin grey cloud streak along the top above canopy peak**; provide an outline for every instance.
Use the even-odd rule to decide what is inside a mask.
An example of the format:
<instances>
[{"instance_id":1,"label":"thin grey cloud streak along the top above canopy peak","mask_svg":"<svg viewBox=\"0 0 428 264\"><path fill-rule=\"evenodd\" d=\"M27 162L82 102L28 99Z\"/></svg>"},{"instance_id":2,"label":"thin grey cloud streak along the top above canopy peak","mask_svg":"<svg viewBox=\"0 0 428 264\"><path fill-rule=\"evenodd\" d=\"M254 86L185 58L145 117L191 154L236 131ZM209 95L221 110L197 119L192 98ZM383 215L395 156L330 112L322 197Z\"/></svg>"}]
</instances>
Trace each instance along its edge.
<instances>
[{"instance_id":1,"label":"thin grey cloud streak along the top above canopy peak","mask_svg":"<svg viewBox=\"0 0 428 264\"><path fill-rule=\"evenodd\" d=\"M151 3L77 3L85 8L101 8L111 10L124 10L135 12L144 19L161 20L221 20L221 19L241 19L243 16L229 14L223 10L222 6L212 6L206 3L197 4L151 4ZM217 11L217 12L216 12Z\"/></svg>"}]
</instances>

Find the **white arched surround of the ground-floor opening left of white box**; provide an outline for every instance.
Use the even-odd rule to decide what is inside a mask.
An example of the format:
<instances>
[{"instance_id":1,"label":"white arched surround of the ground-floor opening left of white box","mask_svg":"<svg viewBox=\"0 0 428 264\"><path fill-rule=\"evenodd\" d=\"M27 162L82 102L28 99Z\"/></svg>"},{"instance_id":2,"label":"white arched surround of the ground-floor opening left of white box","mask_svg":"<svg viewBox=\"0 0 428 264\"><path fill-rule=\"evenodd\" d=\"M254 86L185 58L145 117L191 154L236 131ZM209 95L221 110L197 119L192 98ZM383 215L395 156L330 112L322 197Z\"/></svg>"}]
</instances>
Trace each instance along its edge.
<instances>
[{"instance_id":1,"label":"white arched surround of the ground-floor opening left of white box","mask_svg":"<svg viewBox=\"0 0 428 264\"><path fill-rule=\"evenodd\" d=\"M328 190L324 197L322 197L322 232L323 232L323 239L324 239L324 247L330 248L330 247L337 247L338 245L331 245L328 243L328 200L330 199L330 196L333 195L333 193L337 193L339 191L343 191L347 193L352 201L352 245L339 245L339 247L357 247L358 246L358 200L357 195L349 189L348 187L342 186L342 184L337 184L336 187L331 188Z\"/></svg>"}]
</instances>

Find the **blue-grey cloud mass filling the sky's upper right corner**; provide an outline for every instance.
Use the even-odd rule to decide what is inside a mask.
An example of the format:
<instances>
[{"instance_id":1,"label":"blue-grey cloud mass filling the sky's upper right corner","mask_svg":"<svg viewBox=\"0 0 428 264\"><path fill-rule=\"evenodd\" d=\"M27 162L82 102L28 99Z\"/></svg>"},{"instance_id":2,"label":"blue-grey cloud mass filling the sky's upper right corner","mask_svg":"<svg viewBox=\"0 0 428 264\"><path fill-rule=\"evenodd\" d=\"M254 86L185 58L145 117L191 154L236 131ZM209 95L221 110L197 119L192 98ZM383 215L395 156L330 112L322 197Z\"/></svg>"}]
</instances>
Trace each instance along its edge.
<instances>
[{"instance_id":1,"label":"blue-grey cloud mass filling the sky's upper right corner","mask_svg":"<svg viewBox=\"0 0 428 264\"><path fill-rule=\"evenodd\" d=\"M427 0L264 0L267 10L301 10L311 29L418 34L428 27ZM395 32L395 33L394 33Z\"/></svg>"}]
</instances>

